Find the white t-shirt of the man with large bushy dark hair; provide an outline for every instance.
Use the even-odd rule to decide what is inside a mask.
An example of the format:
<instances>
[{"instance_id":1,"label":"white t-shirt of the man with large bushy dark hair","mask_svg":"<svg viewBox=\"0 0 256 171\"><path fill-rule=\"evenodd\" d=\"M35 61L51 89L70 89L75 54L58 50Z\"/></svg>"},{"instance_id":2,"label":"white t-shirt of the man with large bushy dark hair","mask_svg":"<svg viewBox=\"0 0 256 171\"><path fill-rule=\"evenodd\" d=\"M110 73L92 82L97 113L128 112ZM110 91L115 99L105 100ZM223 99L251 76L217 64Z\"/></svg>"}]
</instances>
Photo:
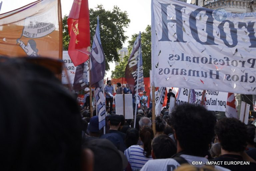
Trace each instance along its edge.
<instances>
[{"instance_id":1,"label":"white t-shirt of the man with large bushy dark hair","mask_svg":"<svg viewBox=\"0 0 256 171\"><path fill-rule=\"evenodd\" d=\"M204 157L190 156L190 155L185 155L185 154L182 154L180 156L183 157L184 159L186 159L189 164L192 164L192 161L202 161L202 163L206 164L206 161L208 161L208 159L206 159ZM203 165L205 165L205 164L203 164ZM201 167L203 165L194 165L194 166ZM147 163L141 168L140 171L156 171L156 170L157 171L172 171L172 170L176 169L178 166L180 166L180 164L176 160L171 159L171 158L154 159L154 160L147 161ZM226 169L221 166L216 166L216 165L215 165L215 169L218 171L230 171L229 169Z\"/></svg>"}]
</instances>

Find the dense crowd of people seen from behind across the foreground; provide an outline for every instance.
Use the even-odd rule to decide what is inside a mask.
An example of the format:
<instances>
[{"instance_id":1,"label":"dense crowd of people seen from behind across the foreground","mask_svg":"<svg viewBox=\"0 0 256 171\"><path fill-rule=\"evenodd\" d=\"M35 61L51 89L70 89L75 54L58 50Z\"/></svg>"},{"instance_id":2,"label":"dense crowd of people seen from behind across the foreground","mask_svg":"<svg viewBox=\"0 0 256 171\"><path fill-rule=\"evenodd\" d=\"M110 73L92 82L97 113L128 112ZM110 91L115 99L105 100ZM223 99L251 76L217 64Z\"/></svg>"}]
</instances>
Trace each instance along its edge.
<instances>
[{"instance_id":1,"label":"dense crowd of people seen from behind across the foreground","mask_svg":"<svg viewBox=\"0 0 256 171\"><path fill-rule=\"evenodd\" d=\"M256 170L254 125L217 121L192 104L164 109L155 121L143 107L134 124L107 106L104 134L96 111L79 107L54 74L27 59L1 60L1 170Z\"/></svg>"}]
</instances>

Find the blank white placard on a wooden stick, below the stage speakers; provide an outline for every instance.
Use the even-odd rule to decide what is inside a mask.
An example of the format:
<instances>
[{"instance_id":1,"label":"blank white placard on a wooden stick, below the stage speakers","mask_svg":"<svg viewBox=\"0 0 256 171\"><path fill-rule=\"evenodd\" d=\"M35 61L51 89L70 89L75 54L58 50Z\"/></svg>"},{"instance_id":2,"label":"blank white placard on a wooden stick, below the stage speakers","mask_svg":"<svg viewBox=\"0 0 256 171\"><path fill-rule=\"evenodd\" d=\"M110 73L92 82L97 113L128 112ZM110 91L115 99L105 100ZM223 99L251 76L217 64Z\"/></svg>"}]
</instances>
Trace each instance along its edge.
<instances>
[{"instance_id":1,"label":"blank white placard on a wooden stick, below the stage speakers","mask_svg":"<svg viewBox=\"0 0 256 171\"><path fill-rule=\"evenodd\" d=\"M125 107L124 107L124 102L125 102ZM124 112L125 112L125 119L133 119L132 94L125 94L124 100L123 100L123 94L116 94L115 106L116 106L117 115L124 115Z\"/></svg>"}]
</instances>

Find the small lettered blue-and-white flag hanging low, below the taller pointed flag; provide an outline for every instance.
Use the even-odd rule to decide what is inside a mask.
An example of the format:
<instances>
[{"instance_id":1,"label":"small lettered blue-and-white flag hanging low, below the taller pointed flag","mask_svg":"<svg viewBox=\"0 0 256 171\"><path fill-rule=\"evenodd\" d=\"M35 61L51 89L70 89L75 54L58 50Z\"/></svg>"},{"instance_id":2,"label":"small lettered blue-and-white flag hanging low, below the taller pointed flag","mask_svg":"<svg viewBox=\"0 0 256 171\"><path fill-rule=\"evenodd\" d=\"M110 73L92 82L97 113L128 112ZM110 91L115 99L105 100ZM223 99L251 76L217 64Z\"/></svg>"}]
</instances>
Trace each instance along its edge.
<instances>
[{"instance_id":1,"label":"small lettered blue-and-white flag hanging low, below the taller pointed flag","mask_svg":"<svg viewBox=\"0 0 256 171\"><path fill-rule=\"evenodd\" d=\"M99 87L95 89L95 98L96 98L97 111L99 116L99 129L101 129L102 127L105 126L106 105L105 105L105 97Z\"/></svg>"}]
</instances>

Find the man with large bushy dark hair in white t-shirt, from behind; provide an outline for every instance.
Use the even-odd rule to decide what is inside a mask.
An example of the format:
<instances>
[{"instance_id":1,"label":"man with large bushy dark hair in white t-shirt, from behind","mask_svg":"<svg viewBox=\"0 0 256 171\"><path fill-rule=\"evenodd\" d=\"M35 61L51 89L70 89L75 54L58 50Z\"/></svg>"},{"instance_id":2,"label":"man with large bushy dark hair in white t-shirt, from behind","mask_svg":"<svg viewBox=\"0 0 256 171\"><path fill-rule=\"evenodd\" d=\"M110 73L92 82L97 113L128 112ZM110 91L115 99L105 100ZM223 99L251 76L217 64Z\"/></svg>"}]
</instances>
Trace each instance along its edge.
<instances>
[{"instance_id":1,"label":"man with large bushy dark hair in white t-shirt, from behind","mask_svg":"<svg viewBox=\"0 0 256 171\"><path fill-rule=\"evenodd\" d=\"M178 105L172 111L170 122L177 141L177 153L173 158L149 160L141 171L175 170L183 163L201 161L203 164L208 161L205 156L208 155L216 123L213 113L199 105ZM220 171L227 170L215 167Z\"/></svg>"}]
</instances>

